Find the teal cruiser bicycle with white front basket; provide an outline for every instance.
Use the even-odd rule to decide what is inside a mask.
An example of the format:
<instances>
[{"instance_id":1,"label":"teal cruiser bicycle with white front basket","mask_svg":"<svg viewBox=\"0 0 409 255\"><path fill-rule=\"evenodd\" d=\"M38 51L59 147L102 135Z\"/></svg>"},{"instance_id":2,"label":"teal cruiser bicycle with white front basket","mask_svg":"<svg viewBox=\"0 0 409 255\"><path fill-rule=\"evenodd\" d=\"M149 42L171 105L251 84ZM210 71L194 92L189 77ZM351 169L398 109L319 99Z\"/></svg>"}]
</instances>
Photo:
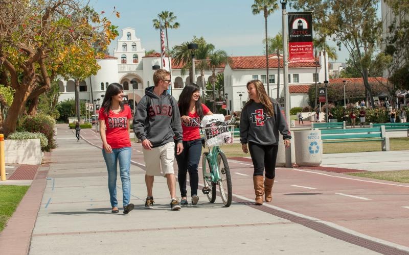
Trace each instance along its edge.
<instances>
[{"instance_id":1,"label":"teal cruiser bicycle with white front basket","mask_svg":"<svg viewBox=\"0 0 409 255\"><path fill-rule=\"evenodd\" d=\"M213 203L216 200L216 185L219 186L221 200L225 207L232 204L232 177L230 175L229 162L220 145L233 144L235 117L226 122L214 122L212 126L201 127L205 134L202 138L203 148L205 145L208 151L202 155L203 187L202 192L206 194L209 201Z\"/></svg>"}]
</instances>

